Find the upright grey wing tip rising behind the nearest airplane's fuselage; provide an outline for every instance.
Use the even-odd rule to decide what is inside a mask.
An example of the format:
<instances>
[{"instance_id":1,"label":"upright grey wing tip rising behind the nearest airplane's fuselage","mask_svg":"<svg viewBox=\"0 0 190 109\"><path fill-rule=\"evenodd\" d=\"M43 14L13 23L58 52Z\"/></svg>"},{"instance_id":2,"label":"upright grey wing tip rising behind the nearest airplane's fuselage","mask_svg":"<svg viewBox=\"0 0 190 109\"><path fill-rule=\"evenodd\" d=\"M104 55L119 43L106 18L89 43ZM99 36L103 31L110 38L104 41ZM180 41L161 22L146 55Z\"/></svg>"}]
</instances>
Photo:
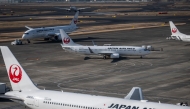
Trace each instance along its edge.
<instances>
[{"instance_id":1,"label":"upright grey wing tip rising behind the nearest airplane's fuselage","mask_svg":"<svg viewBox=\"0 0 190 109\"><path fill-rule=\"evenodd\" d=\"M143 100L143 94L140 87L133 87L124 99Z\"/></svg>"}]
</instances>

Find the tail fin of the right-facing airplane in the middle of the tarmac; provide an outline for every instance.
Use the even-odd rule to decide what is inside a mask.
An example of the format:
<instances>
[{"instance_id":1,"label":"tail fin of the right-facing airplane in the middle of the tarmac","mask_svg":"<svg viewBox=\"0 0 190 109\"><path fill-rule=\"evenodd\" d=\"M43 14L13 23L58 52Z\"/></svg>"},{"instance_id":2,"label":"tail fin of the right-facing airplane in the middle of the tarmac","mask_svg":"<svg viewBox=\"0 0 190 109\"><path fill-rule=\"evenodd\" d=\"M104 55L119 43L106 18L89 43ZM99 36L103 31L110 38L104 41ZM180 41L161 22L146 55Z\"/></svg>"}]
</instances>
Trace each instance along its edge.
<instances>
[{"instance_id":1,"label":"tail fin of the right-facing airplane in the middle of the tarmac","mask_svg":"<svg viewBox=\"0 0 190 109\"><path fill-rule=\"evenodd\" d=\"M63 46L78 46L79 45L79 44L74 43L73 40L67 35L67 33L63 29L60 29L60 33L61 33Z\"/></svg>"}]
</instances>

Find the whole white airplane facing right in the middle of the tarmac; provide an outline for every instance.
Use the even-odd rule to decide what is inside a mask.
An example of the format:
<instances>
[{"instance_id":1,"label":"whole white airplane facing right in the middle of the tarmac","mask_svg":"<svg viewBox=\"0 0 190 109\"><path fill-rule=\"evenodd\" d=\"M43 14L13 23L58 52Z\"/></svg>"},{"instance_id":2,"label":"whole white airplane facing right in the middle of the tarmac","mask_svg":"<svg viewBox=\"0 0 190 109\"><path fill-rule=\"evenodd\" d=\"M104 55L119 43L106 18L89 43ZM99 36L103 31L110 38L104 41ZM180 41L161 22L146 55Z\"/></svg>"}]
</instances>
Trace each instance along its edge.
<instances>
[{"instance_id":1,"label":"whole white airplane facing right in the middle of the tarmac","mask_svg":"<svg viewBox=\"0 0 190 109\"><path fill-rule=\"evenodd\" d=\"M102 55L104 59L119 58L120 56L145 56L150 53L150 50L145 47L137 46L83 46L73 42L73 40L60 30L62 42L62 48L66 51L77 52L85 55Z\"/></svg>"}]
</instances>

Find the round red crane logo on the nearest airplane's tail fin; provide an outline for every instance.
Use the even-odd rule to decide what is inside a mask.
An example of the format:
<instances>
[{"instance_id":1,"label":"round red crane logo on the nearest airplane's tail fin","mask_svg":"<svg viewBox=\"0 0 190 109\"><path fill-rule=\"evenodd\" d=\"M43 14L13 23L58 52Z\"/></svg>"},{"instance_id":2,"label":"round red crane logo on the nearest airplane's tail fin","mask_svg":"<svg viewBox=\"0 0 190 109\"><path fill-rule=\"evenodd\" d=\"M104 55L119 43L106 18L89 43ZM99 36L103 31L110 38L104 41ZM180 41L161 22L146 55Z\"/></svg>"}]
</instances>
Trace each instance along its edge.
<instances>
[{"instance_id":1,"label":"round red crane logo on the nearest airplane's tail fin","mask_svg":"<svg viewBox=\"0 0 190 109\"><path fill-rule=\"evenodd\" d=\"M9 68L9 77L14 83L20 82L20 80L22 79L21 68L16 64L11 65Z\"/></svg>"}]
</instances>

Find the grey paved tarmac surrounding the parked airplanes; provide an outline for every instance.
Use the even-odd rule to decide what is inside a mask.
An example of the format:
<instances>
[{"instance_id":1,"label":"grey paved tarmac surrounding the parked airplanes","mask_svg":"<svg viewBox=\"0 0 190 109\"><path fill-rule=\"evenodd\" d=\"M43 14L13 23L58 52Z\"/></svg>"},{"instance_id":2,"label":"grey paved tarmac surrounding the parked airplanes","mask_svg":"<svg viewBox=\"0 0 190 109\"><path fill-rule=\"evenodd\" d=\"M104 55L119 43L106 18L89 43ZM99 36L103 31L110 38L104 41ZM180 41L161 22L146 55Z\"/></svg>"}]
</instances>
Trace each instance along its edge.
<instances>
[{"instance_id":1,"label":"grey paved tarmac surrounding the parked airplanes","mask_svg":"<svg viewBox=\"0 0 190 109\"><path fill-rule=\"evenodd\" d=\"M137 22L140 19L130 18L128 22ZM142 21L145 21L143 18ZM167 21L167 18L161 20ZM114 24L124 18L115 19L117 20L112 19L113 21L109 23ZM190 23L187 18L170 19L185 22L185 25L177 27L182 33L190 34ZM11 49L32 81L42 90L63 90L124 98L132 87L141 87L145 100L190 104L190 44L166 40L170 35L170 28L161 26L71 36L74 42L82 45L92 45L93 40L96 45L151 45L158 50L152 51L142 59L139 56L126 56L104 60L102 56L65 52L60 46L61 42L43 39L18 46L11 46L10 42L0 44ZM163 48L163 51L159 51L160 48ZM10 87L2 56L0 56L0 82ZM10 100L0 99L0 109L27 108Z\"/></svg>"}]
</instances>

